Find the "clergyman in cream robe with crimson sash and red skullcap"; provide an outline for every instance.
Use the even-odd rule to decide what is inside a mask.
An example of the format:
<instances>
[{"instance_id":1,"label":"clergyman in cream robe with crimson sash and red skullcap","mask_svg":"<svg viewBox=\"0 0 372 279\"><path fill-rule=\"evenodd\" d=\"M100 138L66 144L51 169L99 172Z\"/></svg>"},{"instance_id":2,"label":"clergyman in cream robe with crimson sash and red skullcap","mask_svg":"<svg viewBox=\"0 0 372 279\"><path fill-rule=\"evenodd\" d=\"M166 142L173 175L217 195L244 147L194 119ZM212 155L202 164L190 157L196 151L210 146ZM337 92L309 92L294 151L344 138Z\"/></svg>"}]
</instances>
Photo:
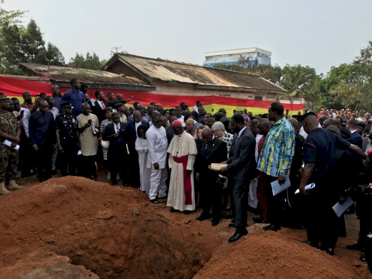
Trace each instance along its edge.
<instances>
[{"instance_id":1,"label":"clergyman in cream robe with crimson sash and red skullcap","mask_svg":"<svg viewBox=\"0 0 372 279\"><path fill-rule=\"evenodd\" d=\"M172 123L175 137L168 147L168 164L171 169L167 207L171 212L184 211L185 214L195 210L194 194L194 162L197 154L196 143L192 136L186 133L181 121Z\"/></svg>"}]
</instances>

